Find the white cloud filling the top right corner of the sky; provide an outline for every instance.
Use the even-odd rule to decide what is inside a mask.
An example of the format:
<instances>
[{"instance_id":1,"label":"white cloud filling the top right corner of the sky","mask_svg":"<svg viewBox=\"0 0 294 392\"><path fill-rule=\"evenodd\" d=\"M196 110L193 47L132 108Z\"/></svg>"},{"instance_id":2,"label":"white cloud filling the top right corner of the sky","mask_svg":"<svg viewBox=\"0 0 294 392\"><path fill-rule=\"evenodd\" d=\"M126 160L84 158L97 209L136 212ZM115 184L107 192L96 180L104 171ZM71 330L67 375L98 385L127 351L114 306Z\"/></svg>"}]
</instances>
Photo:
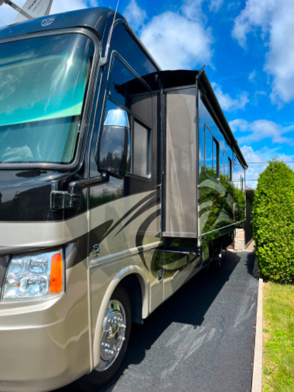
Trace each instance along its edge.
<instances>
[{"instance_id":1,"label":"white cloud filling the top right corner of the sky","mask_svg":"<svg viewBox=\"0 0 294 392\"><path fill-rule=\"evenodd\" d=\"M261 32L268 48L264 70L273 77L272 103L294 99L293 0L247 0L235 19L232 36L246 47L246 37Z\"/></svg>"}]
</instances>

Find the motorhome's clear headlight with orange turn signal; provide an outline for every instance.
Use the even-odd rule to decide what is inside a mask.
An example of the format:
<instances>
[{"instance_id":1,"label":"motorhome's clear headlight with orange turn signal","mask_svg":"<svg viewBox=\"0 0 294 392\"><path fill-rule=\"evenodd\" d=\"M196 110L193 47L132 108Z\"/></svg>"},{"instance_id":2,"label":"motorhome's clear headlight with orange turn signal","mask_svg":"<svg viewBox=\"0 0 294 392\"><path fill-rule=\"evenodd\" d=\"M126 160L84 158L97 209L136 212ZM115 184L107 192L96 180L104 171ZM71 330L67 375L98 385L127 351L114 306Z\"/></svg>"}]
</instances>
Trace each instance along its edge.
<instances>
[{"instance_id":1,"label":"motorhome's clear headlight with orange turn signal","mask_svg":"<svg viewBox=\"0 0 294 392\"><path fill-rule=\"evenodd\" d=\"M2 301L46 297L64 292L63 252L32 252L10 259Z\"/></svg>"}]
</instances>

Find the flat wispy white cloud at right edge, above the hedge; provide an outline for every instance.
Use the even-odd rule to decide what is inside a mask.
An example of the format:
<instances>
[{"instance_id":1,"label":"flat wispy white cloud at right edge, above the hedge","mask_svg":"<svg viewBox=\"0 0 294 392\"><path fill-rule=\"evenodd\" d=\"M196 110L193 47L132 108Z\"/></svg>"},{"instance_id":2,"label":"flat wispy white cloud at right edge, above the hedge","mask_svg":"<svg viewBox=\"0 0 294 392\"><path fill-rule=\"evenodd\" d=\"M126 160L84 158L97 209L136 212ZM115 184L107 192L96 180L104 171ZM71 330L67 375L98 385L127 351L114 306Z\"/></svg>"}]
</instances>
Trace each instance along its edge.
<instances>
[{"instance_id":1,"label":"flat wispy white cloud at right edge, above the hedge","mask_svg":"<svg viewBox=\"0 0 294 392\"><path fill-rule=\"evenodd\" d=\"M294 130L294 124L283 127L280 124L269 120L256 120L248 123L243 119L236 119L229 122L233 132L246 132L246 136L238 137L239 145L260 142L270 139L272 143L287 146L294 146L294 138L285 137L284 134Z\"/></svg>"}]
</instances>

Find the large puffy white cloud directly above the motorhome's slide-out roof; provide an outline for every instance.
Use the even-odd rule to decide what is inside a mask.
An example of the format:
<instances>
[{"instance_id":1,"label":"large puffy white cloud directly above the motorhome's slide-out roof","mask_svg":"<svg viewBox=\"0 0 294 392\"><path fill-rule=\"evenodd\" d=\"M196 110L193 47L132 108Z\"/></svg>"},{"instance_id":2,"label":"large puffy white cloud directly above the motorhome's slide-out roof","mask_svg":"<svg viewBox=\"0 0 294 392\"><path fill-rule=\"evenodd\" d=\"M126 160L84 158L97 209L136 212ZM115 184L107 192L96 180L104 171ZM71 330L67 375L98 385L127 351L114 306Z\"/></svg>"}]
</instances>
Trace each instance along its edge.
<instances>
[{"instance_id":1,"label":"large puffy white cloud directly above the motorhome's slide-out roof","mask_svg":"<svg viewBox=\"0 0 294 392\"><path fill-rule=\"evenodd\" d=\"M140 38L162 69L196 68L210 64L213 42L205 28L200 2L186 2L178 12L166 11L142 27Z\"/></svg>"}]
</instances>

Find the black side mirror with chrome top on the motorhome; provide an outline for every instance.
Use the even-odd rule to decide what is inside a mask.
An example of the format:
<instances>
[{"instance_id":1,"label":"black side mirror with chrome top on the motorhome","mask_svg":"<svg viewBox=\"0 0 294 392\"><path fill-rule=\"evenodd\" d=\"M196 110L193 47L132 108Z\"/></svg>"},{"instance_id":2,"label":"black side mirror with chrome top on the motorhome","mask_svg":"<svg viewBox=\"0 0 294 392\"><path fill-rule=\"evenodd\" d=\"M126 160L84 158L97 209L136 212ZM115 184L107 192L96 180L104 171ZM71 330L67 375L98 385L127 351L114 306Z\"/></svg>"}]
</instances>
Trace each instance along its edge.
<instances>
[{"instance_id":1,"label":"black side mirror with chrome top on the motorhome","mask_svg":"<svg viewBox=\"0 0 294 392\"><path fill-rule=\"evenodd\" d=\"M111 109L106 115L98 146L98 170L123 178L128 170L130 136L127 113Z\"/></svg>"}]
</instances>

